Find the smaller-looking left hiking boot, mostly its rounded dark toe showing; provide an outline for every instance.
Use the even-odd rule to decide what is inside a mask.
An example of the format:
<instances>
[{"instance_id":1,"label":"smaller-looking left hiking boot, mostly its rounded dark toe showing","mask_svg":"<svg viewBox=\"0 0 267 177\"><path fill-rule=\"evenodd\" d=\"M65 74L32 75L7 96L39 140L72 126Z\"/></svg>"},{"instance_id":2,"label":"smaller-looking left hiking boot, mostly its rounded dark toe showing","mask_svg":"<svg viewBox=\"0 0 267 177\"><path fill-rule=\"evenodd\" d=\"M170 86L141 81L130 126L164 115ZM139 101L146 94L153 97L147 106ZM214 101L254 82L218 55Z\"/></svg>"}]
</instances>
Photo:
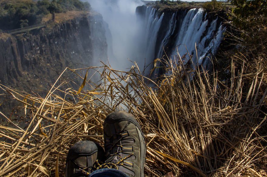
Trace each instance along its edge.
<instances>
[{"instance_id":1,"label":"smaller-looking left hiking boot, mostly its rounded dark toe showing","mask_svg":"<svg viewBox=\"0 0 267 177\"><path fill-rule=\"evenodd\" d=\"M93 141L79 141L68 152L66 177L87 177L105 161L103 148Z\"/></svg>"}]
</instances>

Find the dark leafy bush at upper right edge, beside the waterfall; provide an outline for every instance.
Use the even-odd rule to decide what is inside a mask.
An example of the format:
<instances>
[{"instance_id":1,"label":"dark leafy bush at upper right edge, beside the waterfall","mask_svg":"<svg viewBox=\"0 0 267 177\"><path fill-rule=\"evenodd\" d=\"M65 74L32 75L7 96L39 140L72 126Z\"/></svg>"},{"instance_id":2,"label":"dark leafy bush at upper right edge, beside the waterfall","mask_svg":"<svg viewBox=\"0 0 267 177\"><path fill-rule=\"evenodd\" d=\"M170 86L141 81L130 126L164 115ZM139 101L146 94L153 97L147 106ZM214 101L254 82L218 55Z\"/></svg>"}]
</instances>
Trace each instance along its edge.
<instances>
[{"instance_id":1,"label":"dark leafy bush at upper right edge, beside the waterfall","mask_svg":"<svg viewBox=\"0 0 267 177\"><path fill-rule=\"evenodd\" d=\"M247 72L252 72L255 67L262 67L267 72L267 1L262 0L230 0L234 5L231 19L231 30L239 48L233 57L250 63ZM231 36L232 34L230 34Z\"/></svg>"}]
</instances>

